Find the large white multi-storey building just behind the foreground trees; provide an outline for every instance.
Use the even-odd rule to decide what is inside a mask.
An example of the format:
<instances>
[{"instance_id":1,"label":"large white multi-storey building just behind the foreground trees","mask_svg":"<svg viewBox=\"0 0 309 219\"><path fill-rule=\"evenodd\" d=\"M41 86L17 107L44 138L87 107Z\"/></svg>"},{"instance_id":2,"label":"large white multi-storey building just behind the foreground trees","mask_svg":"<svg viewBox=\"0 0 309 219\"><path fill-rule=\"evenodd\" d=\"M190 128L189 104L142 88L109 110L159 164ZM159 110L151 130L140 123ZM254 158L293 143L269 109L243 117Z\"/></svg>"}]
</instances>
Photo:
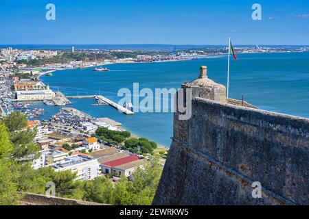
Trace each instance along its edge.
<instances>
[{"instance_id":1,"label":"large white multi-storey building just behind the foreground trees","mask_svg":"<svg viewBox=\"0 0 309 219\"><path fill-rule=\"evenodd\" d=\"M99 163L91 157L74 155L66 157L65 161L52 165L55 171L70 170L76 172L76 179L91 180L99 175Z\"/></svg>"}]
</instances>

